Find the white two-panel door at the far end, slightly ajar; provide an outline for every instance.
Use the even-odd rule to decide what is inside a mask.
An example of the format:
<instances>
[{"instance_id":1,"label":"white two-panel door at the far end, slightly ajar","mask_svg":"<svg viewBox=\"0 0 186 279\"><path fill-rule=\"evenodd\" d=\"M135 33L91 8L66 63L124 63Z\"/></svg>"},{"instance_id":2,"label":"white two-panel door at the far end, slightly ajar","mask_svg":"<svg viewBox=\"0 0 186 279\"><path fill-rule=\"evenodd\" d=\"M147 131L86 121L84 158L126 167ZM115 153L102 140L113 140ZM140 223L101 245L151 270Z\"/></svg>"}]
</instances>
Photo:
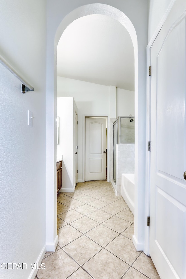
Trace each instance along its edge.
<instances>
[{"instance_id":1,"label":"white two-panel door at the far end, slightly ajar","mask_svg":"<svg viewBox=\"0 0 186 279\"><path fill-rule=\"evenodd\" d=\"M106 119L85 118L85 180L106 179Z\"/></svg>"}]
</instances>

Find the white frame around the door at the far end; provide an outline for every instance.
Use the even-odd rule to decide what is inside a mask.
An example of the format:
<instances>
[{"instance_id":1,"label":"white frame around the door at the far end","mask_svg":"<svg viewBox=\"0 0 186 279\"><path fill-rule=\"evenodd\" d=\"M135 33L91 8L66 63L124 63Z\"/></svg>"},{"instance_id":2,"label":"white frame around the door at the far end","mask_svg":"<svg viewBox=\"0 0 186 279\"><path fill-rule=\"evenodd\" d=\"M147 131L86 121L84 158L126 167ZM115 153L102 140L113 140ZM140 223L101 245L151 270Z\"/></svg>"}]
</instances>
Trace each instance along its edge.
<instances>
[{"instance_id":1,"label":"white frame around the door at the far end","mask_svg":"<svg viewBox=\"0 0 186 279\"><path fill-rule=\"evenodd\" d=\"M107 122L107 182L110 182L110 115L83 115L83 182L85 182L85 118L106 117Z\"/></svg>"}]
</instances>

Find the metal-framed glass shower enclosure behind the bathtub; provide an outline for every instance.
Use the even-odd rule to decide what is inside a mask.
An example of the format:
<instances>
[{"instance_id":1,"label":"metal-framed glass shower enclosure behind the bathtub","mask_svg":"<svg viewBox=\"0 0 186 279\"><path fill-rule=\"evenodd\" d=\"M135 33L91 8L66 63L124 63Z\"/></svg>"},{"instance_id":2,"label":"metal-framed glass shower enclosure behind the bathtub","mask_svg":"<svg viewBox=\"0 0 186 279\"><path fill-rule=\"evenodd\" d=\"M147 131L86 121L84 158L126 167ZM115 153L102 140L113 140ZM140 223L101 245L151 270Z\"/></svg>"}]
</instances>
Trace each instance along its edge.
<instances>
[{"instance_id":1,"label":"metal-framed glass shower enclosure behind the bathtub","mask_svg":"<svg viewBox=\"0 0 186 279\"><path fill-rule=\"evenodd\" d=\"M134 144L134 116L119 116L113 123L113 180L116 183L116 144Z\"/></svg>"}]
</instances>

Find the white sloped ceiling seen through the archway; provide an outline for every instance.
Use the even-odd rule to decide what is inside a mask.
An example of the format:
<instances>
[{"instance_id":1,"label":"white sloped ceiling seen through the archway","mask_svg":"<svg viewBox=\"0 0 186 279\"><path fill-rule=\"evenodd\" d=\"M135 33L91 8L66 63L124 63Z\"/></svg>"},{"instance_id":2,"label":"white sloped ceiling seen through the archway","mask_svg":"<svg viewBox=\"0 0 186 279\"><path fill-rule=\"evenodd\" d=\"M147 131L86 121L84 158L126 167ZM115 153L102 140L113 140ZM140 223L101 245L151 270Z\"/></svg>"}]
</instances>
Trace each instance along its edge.
<instances>
[{"instance_id":1,"label":"white sloped ceiling seen through the archway","mask_svg":"<svg viewBox=\"0 0 186 279\"><path fill-rule=\"evenodd\" d=\"M76 19L59 40L57 75L134 91L134 49L128 31L104 15Z\"/></svg>"}]
</instances>

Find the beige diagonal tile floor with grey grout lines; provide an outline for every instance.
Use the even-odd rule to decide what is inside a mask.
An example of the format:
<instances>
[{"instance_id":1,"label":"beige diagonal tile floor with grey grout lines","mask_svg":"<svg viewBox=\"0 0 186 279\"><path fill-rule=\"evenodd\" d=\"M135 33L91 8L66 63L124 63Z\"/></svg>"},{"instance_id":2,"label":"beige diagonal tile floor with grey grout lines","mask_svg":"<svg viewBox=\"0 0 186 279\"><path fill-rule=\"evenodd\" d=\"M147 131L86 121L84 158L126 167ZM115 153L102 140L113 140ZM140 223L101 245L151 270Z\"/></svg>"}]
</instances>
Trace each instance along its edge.
<instances>
[{"instance_id":1,"label":"beige diagonal tile floor with grey grout lines","mask_svg":"<svg viewBox=\"0 0 186 279\"><path fill-rule=\"evenodd\" d=\"M132 243L134 217L105 181L77 183L57 195L56 252L47 252L37 279L158 279L150 257Z\"/></svg>"}]
</instances>

